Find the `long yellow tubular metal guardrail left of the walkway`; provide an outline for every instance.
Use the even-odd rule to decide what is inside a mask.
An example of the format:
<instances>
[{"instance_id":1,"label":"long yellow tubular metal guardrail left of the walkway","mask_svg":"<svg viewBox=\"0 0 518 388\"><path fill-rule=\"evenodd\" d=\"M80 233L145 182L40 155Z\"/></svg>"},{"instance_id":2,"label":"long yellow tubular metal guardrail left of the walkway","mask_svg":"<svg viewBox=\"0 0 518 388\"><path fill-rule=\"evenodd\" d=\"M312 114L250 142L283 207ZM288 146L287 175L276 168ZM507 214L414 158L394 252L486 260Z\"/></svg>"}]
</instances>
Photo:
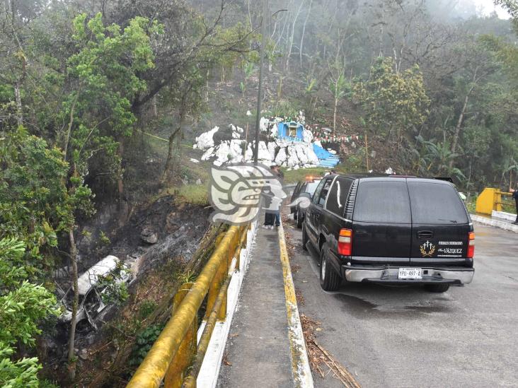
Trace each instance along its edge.
<instances>
[{"instance_id":1,"label":"long yellow tubular metal guardrail left of the walkway","mask_svg":"<svg viewBox=\"0 0 518 388\"><path fill-rule=\"evenodd\" d=\"M196 387L196 377L217 321L226 317L226 291L250 225L231 226L194 283L185 283L173 298L171 319L142 361L128 388ZM198 311L207 297L205 329L197 343Z\"/></svg>"}]
</instances>

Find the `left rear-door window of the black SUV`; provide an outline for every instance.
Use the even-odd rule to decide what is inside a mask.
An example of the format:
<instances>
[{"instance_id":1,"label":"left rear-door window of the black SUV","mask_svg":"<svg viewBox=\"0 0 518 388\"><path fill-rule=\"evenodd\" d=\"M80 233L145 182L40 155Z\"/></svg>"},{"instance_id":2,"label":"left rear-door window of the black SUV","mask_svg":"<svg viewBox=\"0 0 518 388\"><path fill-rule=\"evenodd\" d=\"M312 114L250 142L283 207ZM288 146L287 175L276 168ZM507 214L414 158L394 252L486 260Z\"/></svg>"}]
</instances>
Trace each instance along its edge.
<instances>
[{"instance_id":1,"label":"left rear-door window of the black SUV","mask_svg":"<svg viewBox=\"0 0 518 388\"><path fill-rule=\"evenodd\" d=\"M376 223L411 223L406 182L360 182L352 219Z\"/></svg>"}]
</instances>

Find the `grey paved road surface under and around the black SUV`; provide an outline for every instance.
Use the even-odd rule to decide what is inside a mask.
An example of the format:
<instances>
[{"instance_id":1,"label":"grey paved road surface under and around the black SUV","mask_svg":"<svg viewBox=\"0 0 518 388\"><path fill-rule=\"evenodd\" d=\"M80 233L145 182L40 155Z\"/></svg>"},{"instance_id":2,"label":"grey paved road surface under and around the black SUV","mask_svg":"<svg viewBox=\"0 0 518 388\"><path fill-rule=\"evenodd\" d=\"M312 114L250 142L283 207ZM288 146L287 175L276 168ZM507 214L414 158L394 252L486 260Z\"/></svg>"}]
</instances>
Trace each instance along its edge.
<instances>
[{"instance_id":1,"label":"grey paved road surface under and around the black SUV","mask_svg":"<svg viewBox=\"0 0 518 388\"><path fill-rule=\"evenodd\" d=\"M473 283L447 293L359 283L326 293L300 230L284 225L299 310L321 322L316 340L363 387L518 387L517 233L476 225ZM332 373L313 378L340 387Z\"/></svg>"}]
</instances>

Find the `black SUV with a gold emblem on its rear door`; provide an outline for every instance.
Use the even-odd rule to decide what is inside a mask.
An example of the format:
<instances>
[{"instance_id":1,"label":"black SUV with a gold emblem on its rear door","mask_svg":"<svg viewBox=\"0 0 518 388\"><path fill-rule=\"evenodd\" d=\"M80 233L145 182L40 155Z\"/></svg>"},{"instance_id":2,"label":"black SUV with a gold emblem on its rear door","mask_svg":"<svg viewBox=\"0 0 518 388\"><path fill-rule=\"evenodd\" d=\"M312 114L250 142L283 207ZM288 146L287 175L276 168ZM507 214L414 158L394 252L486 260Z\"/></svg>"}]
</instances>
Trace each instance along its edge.
<instances>
[{"instance_id":1,"label":"black SUV with a gold emblem on its rear door","mask_svg":"<svg viewBox=\"0 0 518 388\"><path fill-rule=\"evenodd\" d=\"M473 223L450 182L396 175L328 175L306 208L304 249L320 254L320 283L471 283ZM309 243L309 244L308 244Z\"/></svg>"}]
</instances>

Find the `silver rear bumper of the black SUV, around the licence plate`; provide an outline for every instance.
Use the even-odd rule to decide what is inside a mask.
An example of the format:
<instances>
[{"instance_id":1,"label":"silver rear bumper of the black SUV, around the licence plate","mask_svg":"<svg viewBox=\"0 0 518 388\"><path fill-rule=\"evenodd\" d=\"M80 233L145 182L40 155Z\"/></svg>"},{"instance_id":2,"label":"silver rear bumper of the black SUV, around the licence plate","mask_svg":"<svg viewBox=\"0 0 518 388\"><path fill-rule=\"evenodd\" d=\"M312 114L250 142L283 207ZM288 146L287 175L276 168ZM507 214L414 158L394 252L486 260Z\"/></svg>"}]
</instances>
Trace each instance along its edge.
<instances>
[{"instance_id":1,"label":"silver rear bumper of the black SUV, around the licence plate","mask_svg":"<svg viewBox=\"0 0 518 388\"><path fill-rule=\"evenodd\" d=\"M411 267L409 265L408 267ZM404 266L401 266L404 267ZM473 280L473 268L448 268L422 266L422 279L398 279L399 267L380 268L376 266L342 266L342 277L351 282L371 282L388 284L447 283L468 284Z\"/></svg>"}]
</instances>

